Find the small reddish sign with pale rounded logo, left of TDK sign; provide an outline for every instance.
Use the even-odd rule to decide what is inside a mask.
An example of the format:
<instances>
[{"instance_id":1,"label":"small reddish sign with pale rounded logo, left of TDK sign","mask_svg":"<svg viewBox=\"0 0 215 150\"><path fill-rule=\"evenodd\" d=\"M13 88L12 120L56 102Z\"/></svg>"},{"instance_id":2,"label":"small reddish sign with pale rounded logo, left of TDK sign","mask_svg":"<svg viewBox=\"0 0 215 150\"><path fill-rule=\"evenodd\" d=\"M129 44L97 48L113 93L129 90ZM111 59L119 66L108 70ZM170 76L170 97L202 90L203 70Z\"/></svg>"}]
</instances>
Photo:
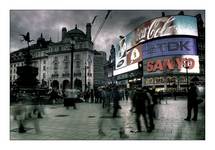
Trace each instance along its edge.
<instances>
[{"instance_id":1,"label":"small reddish sign with pale rounded logo, left of TDK sign","mask_svg":"<svg viewBox=\"0 0 215 150\"><path fill-rule=\"evenodd\" d=\"M131 49L127 53L127 65L131 65L133 63L137 63L142 61L143 53L142 53L143 45L138 45L135 48Z\"/></svg>"}]
</instances>

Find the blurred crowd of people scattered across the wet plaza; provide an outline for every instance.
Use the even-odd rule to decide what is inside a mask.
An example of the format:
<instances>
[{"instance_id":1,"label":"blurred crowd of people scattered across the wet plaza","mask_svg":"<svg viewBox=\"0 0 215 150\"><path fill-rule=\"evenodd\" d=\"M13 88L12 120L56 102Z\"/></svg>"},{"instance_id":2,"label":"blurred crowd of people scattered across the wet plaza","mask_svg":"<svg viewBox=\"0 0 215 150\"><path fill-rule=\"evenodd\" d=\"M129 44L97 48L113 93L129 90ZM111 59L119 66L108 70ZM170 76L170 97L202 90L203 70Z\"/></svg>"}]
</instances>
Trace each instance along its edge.
<instances>
[{"instance_id":1,"label":"blurred crowd of people scattered across the wet plaza","mask_svg":"<svg viewBox=\"0 0 215 150\"><path fill-rule=\"evenodd\" d=\"M122 108L120 105L120 101L131 101L131 113L135 113L135 121L137 132L142 132L141 122L144 123L145 129L147 132L152 132L155 129L154 118L156 118L156 105L160 103L161 96L155 91L155 89L149 89L147 87L137 87L132 89L122 89L117 85L105 86L96 89L95 91L87 91L85 93L81 93L78 89L71 89L70 86L65 86L62 92L59 92L57 88L53 88L49 92L49 100L57 101L57 99L63 99L64 106L69 109L69 107L73 107L77 109L76 102L78 99L83 98L84 102L91 103L100 103L102 109L105 110L103 113L110 113L113 120L119 117L119 110ZM192 120L197 120L198 115L198 104L197 100L198 92L195 84L191 84L188 91L188 103L187 103L187 117L186 121L190 121L191 119L191 111L194 109L194 117ZM38 97L37 97L38 99ZM163 99L163 95L162 95ZM24 133L25 131L25 119L26 114L27 118L31 118L36 132L40 132L39 121L38 118L42 118L44 114L44 110L42 105L36 101L30 109L30 111L26 111L26 107L19 96L18 103L14 107L14 118L18 123L18 130L20 133ZM25 112L25 113L24 113ZM26 113L28 112L28 113ZM104 115L104 114L102 114ZM143 118L143 121L141 121ZM124 125L120 124L119 126L119 134L120 137L128 137L124 131ZM103 131L103 120L100 119L98 126L99 135L105 135Z\"/></svg>"}]
</instances>

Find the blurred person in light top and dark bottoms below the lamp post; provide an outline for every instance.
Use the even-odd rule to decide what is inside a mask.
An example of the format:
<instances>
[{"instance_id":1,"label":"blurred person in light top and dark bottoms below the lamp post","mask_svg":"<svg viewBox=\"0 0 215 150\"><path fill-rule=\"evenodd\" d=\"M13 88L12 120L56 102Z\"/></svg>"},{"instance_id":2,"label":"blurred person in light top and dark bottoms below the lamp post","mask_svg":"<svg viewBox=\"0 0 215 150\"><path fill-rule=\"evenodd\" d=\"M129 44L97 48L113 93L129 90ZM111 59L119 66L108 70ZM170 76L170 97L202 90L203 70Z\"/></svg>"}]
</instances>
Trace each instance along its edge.
<instances>
[{"instance_id":1,"label":"blurred person in light top and dark bottoms below the lamp post","mask_svg":"<svg viewBox=\"0 0 215 150\"><path fill-rule=\"evenodd\" d=\"M76 101L78 99L79 90L77 89L70 89L69 85L66 86L65 92L64 92L65 98L64 98L64 106L69 109L70 106L73 106L74 109L76 108Z\"/></svg>"}]
</instances>

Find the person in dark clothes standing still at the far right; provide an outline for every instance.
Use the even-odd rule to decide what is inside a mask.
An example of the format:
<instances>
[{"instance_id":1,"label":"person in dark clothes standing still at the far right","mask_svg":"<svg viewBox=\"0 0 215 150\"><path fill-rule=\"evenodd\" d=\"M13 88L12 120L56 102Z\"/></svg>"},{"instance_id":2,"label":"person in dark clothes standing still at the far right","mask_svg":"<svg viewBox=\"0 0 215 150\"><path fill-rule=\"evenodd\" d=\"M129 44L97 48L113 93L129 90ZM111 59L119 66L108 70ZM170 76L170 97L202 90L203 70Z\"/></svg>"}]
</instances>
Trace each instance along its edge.
<instances>
[{"instance_id":1,"label":"person in dark clothes standing still at the far right","mask_svg":"<svg viewBox=\"0 0 215 150\"><path fill-rule=\"evenodd\" d=\"M196 121L198 117L198 89L195 83L190 84L190 88L188 89L187 95L187 117L184 119L186 121L190 121L191 112L194 111L194 116L192 120Z\"/></svg>"}]
</instances>

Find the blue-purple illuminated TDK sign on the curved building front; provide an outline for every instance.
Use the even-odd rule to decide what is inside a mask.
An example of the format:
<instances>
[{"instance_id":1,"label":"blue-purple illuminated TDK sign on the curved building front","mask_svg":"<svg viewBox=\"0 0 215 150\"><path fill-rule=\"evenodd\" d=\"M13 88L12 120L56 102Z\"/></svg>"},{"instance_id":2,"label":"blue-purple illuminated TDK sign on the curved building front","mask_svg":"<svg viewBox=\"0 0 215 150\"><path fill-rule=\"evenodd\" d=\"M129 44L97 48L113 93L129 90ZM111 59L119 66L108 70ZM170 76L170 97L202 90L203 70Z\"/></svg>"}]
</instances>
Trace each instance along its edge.
<instances>
[{"instance_id":1,"label":"blue-purple illuminated TDK sign on the curved building front","mask_svg":"<svg viewBox=\"0 0 215 150\"><path fill-rule=\"evenodd\" d=\"M143 44L143 59L171 56L171 55L196 55L197 44L195 38L171 37L156 39Z\"/></svg>"}]
</instances>

